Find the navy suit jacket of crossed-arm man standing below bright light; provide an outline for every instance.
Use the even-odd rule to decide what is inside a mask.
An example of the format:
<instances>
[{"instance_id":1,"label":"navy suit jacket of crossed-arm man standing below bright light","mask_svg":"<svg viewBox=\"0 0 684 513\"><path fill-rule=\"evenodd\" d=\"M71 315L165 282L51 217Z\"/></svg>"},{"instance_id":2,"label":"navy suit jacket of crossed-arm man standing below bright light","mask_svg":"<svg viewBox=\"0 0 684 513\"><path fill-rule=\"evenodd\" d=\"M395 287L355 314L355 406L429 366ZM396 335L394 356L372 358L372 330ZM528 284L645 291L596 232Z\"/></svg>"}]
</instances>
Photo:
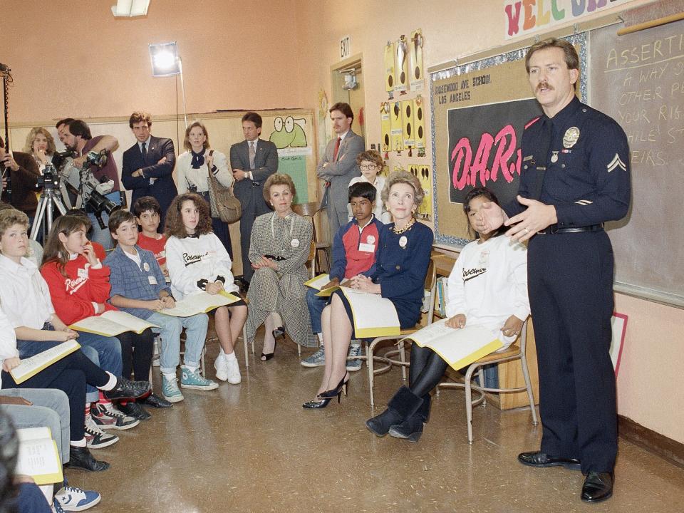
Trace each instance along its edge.
<instances>
[{"instance_id":1,"label":"navy suit jacket of crossed-arm man standing below bright light","mask_svg":"<svg viewBox=\"0 0 684 513\"><path fill-rule=\"evenodd\" d=\"M157 164L162 157L166 162ZM123 152L123 167L121 170L121 182L123 186L133 191L131 204L140 197L152 196L162 208L162 214L178 195L176 184L173 181L173 167L176 163L176 153L173 141L170 139L150 136L150 147L147 148L145 160L142 160L142 152L138 142ZM133 177L133 172L142 169L145 177ZM150 178L156 178L155 183L150 185Z\"/></svg>"}]
</instances>

